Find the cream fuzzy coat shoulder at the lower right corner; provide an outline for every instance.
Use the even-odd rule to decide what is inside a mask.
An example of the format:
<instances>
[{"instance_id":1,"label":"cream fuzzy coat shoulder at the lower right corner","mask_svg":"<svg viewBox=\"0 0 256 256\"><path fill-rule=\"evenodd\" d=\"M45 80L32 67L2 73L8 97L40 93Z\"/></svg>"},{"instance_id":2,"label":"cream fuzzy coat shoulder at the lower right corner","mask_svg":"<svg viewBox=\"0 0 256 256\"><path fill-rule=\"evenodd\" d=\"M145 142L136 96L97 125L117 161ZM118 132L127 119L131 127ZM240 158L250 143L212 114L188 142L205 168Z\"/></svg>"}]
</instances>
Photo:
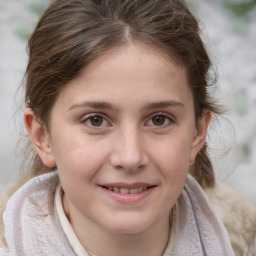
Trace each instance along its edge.
<instances>
[{"instance_id":1,"label":"cream fuzzy coat shoulder at the lower right corner","mask_svg":"<svg viewBox=\"0 0 256 256\"><path fill-rule=\"evenodd\" d=\"M218 182L204 189L215 212L223 222L236 255L256 255L256 208L244 196Z\"/></svg>"}]
</instances>

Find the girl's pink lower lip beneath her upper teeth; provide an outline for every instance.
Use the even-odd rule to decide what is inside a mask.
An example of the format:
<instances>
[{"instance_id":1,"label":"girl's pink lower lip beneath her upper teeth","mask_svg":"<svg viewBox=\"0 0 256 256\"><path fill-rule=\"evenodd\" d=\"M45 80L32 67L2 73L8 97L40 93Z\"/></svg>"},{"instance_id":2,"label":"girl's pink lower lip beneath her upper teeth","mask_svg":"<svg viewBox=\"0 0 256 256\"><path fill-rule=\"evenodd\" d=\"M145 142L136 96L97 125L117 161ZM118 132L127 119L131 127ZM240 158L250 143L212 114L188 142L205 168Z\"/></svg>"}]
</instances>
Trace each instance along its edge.
<instances>
[{"instance_id":1,"label":"girl's pink lower lip beneath her upper teeth","mask_svg":"<svg viewBox=\"0 0 256 256\"><path fill-rule=\"evenodd\" d=\"M139 193L135 193L135 194L122 194L122 193L114 192L112 190L109 190L109 189L106 189L103 187L101 187L101 188L108 196L110 196L112 199L114 199L118 202L134 203L134 202L141 201L141 200L145 199L146 197L148 197L156 187L151 187L151 188L148 188L146 190L143 190L143 191L141 191Z\"/></svg>"}]
</instances>

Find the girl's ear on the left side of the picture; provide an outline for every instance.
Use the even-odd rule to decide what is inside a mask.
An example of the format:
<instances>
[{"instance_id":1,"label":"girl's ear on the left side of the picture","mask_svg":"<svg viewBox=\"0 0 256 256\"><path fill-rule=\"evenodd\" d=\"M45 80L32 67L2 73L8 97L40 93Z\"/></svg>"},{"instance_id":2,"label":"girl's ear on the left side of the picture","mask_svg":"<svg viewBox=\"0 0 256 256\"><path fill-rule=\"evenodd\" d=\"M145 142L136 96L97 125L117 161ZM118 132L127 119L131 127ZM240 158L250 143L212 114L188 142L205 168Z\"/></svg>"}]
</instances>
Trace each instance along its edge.
<instances>
[{"instance_id":1,"label":"girl's ear on the left side of the picture","mask_svg":"<svg viewBox=\"0 0 256 256\"><path fill-rule=\"evenodd\" d=\"M52 150L51 138L46 127L39 122L31 108L24 112L24 123L33 146L45 166L53 168L56 166Z\"/></svg>"}]
</instances>

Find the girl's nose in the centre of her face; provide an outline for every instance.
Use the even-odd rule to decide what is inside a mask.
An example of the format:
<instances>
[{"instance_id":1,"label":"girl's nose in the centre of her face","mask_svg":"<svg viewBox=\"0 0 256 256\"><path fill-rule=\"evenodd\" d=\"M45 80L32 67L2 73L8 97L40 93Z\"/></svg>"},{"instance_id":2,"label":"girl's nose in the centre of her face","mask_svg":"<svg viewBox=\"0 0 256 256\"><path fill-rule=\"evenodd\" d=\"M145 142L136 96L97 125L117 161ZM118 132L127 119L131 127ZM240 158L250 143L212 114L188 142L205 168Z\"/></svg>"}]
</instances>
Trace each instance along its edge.
<instances>
[{"instance_id":1,"label":"girl's nose in the centre of her face","mask_svg":"<svg viewBox=\"0 0 256 256\"><path fill-rule=\"evenodd\" d=\"M111 165L119 170L138 172L149 162L143 135L137 129L119 132L112 144Z\"/></svg>"}]
</instances>

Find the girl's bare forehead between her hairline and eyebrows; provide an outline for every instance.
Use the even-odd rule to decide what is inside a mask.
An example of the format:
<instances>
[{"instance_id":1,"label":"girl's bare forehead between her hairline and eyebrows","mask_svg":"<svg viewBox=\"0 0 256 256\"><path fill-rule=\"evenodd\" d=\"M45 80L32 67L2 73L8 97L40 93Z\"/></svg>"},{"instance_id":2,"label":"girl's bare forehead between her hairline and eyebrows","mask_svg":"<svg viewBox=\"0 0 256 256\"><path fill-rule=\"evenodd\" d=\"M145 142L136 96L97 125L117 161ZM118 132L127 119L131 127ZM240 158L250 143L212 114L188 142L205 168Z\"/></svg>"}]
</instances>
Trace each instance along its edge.
<instances>
[{"instance_id":1,"label":"girl's bare forehead between her hairline and eyebrows","mask_svg":"<svg viewBox=\"0 0 256 256\"><path fill-rule=\"evenodd\" d=\"M186 102L189 97L185 68L156 48L131 44L93 61L62 90L59 98L67 104L98 100L145 105L153 99Z\"/></svg>"}]
</instances>

